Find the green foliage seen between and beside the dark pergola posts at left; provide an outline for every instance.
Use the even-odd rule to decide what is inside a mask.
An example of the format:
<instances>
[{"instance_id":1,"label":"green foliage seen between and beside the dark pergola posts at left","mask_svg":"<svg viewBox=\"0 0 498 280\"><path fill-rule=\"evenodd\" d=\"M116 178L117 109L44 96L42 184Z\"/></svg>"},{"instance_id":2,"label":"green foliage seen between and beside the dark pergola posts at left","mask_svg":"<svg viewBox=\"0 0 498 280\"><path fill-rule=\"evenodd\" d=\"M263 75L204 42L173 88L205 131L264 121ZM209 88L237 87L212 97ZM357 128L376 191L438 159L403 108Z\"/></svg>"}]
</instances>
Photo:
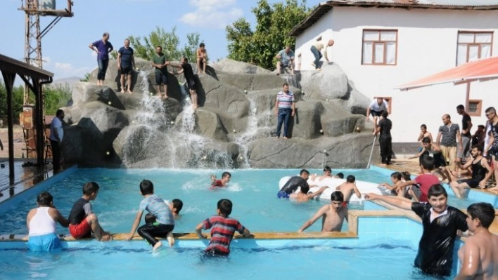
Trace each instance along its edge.
<instances>
[{"instance_id":1,"label":"green foliage seen between and beside the dark pergola posts at left","mask_svg":"<svg viewBox=\"0 0 498 280\"><path fill-rule=\"evenodd\" d=\"M45 114L55 115L57 109L68 105L71 99L71 88L68 84L44 86ZM32 95L33 93L30 93ZM15 86L12 89L13 117L18 119L23 112L24 86ZM7 89L4 81L0 80L0 119L7 118Z\"/></svg>"}]
</instances>

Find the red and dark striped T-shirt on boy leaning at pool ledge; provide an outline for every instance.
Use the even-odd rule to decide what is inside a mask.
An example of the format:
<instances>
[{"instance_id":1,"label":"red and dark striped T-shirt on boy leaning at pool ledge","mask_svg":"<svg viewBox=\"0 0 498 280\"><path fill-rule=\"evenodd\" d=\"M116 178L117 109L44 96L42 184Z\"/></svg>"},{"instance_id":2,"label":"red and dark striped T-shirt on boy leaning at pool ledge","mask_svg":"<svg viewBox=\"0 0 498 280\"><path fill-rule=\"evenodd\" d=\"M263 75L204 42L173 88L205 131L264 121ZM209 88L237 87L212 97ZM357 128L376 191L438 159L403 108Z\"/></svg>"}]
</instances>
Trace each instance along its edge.
<instances>
[{"instance_id":1,"label":"red and dark striped T-shirt on boy leaning at pool ledge","mask_svg":"<svg viewBox=\"0 0 498 280\"><path fill-rule=\"evenodd\" d=\"M203 229L211 229L211 241L206 251L215 249L223 253L230 253L230 242L237 231L243 234L245 227L234 218L223 218L219 215L211 216L203 222Z\"/></svg>"}]
</instances>

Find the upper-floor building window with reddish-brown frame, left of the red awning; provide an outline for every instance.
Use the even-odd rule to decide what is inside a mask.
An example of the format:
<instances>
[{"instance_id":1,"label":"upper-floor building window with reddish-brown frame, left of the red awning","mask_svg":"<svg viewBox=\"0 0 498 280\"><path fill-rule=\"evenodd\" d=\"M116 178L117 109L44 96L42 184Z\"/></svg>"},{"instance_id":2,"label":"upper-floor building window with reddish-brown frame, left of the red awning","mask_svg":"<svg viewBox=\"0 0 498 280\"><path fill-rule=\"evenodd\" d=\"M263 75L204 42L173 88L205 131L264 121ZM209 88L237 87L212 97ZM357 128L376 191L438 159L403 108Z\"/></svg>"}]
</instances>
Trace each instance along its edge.
<instances>
[{"instance_id":1,"label":"upper-floor building window with reddish-brown frame, left of the red awning","mask_svg":"<svg viewBox=\"0 0 498 280\"><path fill-rule=\"evenodd\" d=\"M363 30L363 65L396 65L397 30Z\"/></svg>"}]
</instances>

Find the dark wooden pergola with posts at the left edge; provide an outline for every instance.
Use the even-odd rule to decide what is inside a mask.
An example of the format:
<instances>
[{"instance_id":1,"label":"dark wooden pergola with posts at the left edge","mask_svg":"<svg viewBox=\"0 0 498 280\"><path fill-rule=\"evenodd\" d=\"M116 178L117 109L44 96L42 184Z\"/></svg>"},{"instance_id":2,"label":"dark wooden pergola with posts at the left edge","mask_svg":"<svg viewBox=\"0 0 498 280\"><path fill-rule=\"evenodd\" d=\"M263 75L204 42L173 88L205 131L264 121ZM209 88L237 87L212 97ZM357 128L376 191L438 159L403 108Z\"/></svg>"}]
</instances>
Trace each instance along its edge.
<instances>
[{"instance_id":1,"label":"dark wooden pergola with posts at the left edge","mask_svg":"<svg viewBox=\"0 0 498 280\"><path fill-rule=\"evenodd\" d=\"M37 135L37 165L43 166L44 159L44 102L43 102L43 85L50 84L53 81L53 73L44 69L29 65L25 62L9 58L0 54L0 72L4 77L5 87L7 89L7 126L8 126L8 177L13 184L14 180L14 133L13 133L13 110L12 110L12 89L15 75L27 84L34 93L36 115L34 124L36 125Z\"/></svg>"}]
</instances>

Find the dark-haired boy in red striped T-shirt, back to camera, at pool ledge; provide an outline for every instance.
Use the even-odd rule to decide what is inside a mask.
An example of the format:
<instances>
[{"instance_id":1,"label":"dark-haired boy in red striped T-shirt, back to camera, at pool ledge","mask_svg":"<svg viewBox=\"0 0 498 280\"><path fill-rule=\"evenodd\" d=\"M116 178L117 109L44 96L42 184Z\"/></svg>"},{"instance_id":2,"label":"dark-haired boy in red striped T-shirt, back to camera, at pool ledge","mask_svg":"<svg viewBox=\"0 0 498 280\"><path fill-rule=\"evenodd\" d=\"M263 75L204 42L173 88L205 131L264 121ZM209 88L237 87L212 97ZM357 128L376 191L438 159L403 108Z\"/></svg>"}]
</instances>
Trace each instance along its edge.
<instances>
[{"instance_id":1,"label":"dark-haired boy in red striped T-shirt, back to camera, at pool ledge","mask_svg":"<svg viewBox=\"0 0 498 280\"><path fill-rule=\"evenodd\" d=\"M228 199L220 199L217 204L217 214L204 220L196 227L200 239L207 239L202 229L211 229L211 240L205 253L208 255L229 255L230 242L237 231L245 237L250 236L249 229L241 225L238 220L229 218L233 204Z\"/></svg>"}]
</instances>

